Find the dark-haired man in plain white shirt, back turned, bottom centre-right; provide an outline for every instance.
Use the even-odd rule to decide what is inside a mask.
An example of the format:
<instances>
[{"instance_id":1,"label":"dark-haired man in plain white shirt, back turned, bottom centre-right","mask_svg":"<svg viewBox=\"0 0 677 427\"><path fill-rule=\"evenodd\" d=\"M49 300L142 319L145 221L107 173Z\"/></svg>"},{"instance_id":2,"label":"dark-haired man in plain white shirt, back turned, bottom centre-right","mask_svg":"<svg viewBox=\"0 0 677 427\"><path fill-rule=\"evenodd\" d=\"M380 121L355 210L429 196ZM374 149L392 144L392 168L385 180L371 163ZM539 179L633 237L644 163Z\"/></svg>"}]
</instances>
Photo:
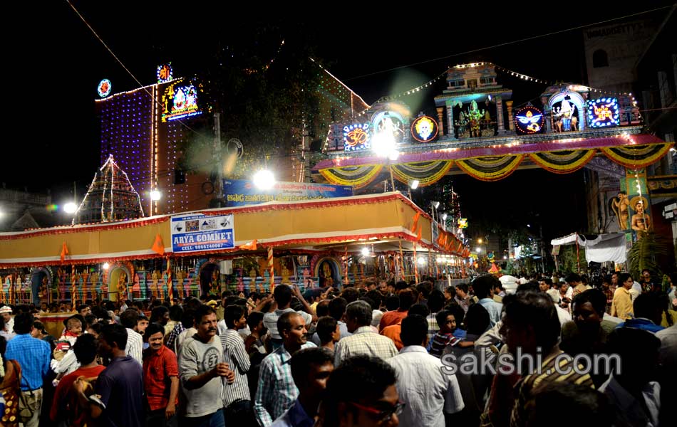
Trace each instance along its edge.
<instances>
[{"instance_id":1,"label":"dark-haired man in plain white shirt, back turned, bottom centre-right","mask_svg":"<svg viewBox=\"0 0 677 427\"><path fill-rule=\"evenodd\" d=\"M444 427L445 414L457 413L464 406L458 379L446 373L442 361L425 350L428 344L425 317L405 317L400 338L405 347L386 361L397 373L396 387L405 403L398 416L400 426Z\"/></svg>"}]
</instances>

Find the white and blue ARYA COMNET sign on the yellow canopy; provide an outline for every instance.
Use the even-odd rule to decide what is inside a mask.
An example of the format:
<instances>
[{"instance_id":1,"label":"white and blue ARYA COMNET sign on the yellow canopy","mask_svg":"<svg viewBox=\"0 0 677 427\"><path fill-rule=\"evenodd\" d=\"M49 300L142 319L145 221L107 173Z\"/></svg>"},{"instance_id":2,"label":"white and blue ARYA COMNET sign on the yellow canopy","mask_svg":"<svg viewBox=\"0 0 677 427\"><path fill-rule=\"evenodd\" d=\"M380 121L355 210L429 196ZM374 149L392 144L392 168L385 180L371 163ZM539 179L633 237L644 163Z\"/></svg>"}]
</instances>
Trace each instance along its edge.
<instances>
[{"instance_id":1,"label":"white and blue ARYA COMNET sign on the yellow canopy","mask_svg":"<svg viewBox=\"0 0 677 427\"><path fill-rule=\"evenodd\" d=\"M233 216L172 216L172 251L197 252L234 248Z\"/></svg>"}]
</instances>

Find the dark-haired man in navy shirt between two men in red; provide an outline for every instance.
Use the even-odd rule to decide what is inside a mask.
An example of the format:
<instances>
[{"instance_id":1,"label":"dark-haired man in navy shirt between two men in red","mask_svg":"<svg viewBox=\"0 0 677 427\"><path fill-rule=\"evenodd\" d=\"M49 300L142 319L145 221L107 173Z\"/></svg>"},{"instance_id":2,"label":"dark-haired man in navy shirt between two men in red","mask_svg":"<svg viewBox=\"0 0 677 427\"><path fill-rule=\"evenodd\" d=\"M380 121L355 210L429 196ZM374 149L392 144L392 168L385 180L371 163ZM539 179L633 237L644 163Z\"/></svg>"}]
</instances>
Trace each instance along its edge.
<instances>
[{"instance_id":1,"label":"dark-haired man in navy shirt between two men in red","mask_svg":"<svg viewBox=\"0 0 677 427\"><path fill-rule=\"evenodd\" d=\"M133 357L125 354L127 330L123 325L105 325L99 336L99 353L111 362L98 376L95 394L105 407L88 400L84 394L85 380L73 383L80 406L88 409L91 418L98 418L100 426L142 427L143 372Z\"/></svg>"}]
</instances>

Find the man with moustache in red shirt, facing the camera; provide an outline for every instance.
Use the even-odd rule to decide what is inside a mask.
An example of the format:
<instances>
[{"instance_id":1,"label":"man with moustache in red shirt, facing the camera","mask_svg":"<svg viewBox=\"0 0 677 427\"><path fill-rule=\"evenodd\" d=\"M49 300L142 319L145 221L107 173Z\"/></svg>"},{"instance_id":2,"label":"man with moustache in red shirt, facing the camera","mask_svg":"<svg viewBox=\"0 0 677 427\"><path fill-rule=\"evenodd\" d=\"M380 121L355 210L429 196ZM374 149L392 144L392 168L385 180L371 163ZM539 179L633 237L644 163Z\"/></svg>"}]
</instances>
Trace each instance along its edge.
<instances>
[{"instance_id":1,"label":"man with moustache in red shirt, facing the camera","mask_svg":"<svg viewBox=\"0 0 677 427\"><path fill-rule=\"evenodd\" d=\"M145 330L150 344L143 352L143 387L148 400L148 427L175 427L179 367L176 355L162 344L165 328L151 323Z\"/></svg>"}]
</instances>

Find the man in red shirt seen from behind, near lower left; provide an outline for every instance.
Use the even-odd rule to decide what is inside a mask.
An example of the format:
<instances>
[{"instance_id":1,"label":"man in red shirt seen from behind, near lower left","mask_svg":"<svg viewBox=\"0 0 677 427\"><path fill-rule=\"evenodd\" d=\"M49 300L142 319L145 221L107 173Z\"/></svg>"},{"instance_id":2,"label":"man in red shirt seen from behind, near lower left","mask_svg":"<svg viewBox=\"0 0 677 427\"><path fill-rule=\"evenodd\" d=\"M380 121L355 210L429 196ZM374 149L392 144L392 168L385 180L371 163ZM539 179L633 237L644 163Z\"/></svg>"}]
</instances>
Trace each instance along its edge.
<instances>
[{"instance_id":1,"label":"man in red shirt seen from behind, near lower left","mask_svg":"<svg viewBox=\"0 0 677 427\"><path fill-rule=\"evenodd\" d=\"M79 376L86 379L96 378L105 367L96 362L98 342L93 334L83 334L78 337L72 351L80 362L80 368L64 376L54 391L54 400L49 411L52 421L66 421L69 426L81 427L91 424L86 411L78 405L78 395L73 392L73 382Z\"/></svg>"}]
</instances>

